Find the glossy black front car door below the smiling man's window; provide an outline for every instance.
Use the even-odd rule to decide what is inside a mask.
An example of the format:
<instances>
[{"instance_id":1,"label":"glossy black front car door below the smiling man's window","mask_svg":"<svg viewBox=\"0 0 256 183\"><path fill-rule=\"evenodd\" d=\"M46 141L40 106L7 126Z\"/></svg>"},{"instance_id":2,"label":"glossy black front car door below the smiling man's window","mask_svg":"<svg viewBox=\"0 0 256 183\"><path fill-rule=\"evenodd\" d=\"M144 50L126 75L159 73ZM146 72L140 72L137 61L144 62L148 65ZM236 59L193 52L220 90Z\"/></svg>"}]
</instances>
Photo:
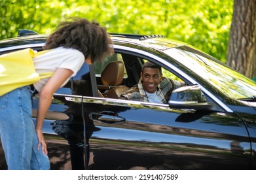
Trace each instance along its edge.
<instances>
[{"instance_id":1,"label":"glossy black front car door below the smiling man's window","mask_svg":"<svg viewBox=\"0 0 256 183\"><path fill-rule=\"evenodd\" d=\"M244 123L206 97L214 110L82 97L84 114L98 129L89 139L90 169L250 169Z\"/></svg>"}]
</instances>

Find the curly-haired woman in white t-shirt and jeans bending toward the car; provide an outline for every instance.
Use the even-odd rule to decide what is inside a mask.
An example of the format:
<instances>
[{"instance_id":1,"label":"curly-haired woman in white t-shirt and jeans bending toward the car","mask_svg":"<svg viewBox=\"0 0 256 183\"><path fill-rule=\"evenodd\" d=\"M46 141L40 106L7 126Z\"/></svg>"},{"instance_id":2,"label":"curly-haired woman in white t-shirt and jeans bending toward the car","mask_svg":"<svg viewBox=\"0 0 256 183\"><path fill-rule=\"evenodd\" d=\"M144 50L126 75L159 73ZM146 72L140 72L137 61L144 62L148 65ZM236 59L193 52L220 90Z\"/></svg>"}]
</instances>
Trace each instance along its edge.
<instances>
[{"instance_id":1,"label":"curly-haired woman in white t-shirt and jeans bending toward the car","mask_svg":"<svg viewBox=\"0 0 256 183\"><path fill-rule=\"evenodd\" d=\"M111 55L111 40L97 22L75 18L62 22L44 46L48 52L33 58L37 73L54 72L33 84L39 92L37 120L32 121L30 86L0 97L0 135L8 169L50 169L42 126L53 93L88 64Z\"/></svg>"}]
</instances>

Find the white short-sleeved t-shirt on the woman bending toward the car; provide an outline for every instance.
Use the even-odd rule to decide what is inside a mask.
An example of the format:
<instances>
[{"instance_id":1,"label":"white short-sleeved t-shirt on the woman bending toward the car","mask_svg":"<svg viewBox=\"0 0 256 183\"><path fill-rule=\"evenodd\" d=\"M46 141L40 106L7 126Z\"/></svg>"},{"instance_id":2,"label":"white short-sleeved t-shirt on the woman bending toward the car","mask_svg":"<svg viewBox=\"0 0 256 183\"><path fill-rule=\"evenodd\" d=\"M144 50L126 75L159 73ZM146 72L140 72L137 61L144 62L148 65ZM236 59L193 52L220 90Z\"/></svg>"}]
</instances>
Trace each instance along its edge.
<instances>
[{"instance_id":1,"label":"white short-sleeved t-shirt on the woman bending toward the car","mask_svg":"<svg viewBox=\"0 0 256 183\"><path fill-rule=\"evenodd\" d=\"M75 76L84 63L84 55L79 50L73 48L58 47L33 58L35 71L37 73L54 72L58 68L70 69L73 71L71 76ZM33 84L35 89L40 92L49 78L43 78ZM69 78L62 84L64 86Z\"/></svg>"}]
</instances>

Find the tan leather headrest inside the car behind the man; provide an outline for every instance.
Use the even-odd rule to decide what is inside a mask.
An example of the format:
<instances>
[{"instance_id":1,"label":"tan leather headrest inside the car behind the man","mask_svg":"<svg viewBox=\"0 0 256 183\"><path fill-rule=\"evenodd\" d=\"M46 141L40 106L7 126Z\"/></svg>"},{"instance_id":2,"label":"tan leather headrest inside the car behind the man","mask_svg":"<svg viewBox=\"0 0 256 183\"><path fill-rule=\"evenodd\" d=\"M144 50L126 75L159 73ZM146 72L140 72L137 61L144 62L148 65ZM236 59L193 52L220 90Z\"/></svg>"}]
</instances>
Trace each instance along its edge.
<instances>
[{"instance_id":1,"label":"tan leather headrest inside the car behind the man","mask_svg":"<svg viewBox=\"0 0 256 183\"><path fill-rule=\"evenodd\" d=\"M104 85L119 85L122 83L123 78L124 63L122 61L109 62L101 73L101 81Z\"/></svg>"}]
</instances>

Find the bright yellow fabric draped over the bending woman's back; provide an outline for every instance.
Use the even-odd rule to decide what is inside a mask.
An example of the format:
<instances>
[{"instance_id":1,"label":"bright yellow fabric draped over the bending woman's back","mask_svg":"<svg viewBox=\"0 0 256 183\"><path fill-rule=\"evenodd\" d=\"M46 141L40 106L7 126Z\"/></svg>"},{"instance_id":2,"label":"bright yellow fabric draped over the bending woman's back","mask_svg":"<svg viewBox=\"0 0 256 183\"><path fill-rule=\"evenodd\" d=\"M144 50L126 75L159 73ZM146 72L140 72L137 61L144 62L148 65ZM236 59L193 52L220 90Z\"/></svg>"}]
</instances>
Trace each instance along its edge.
<instances>
[{"instance_id":1,"label":"bright yellow fabric draped over the bending woman's back","mask_svg":"<svg viewBox=\"0 0 256 183\"><path fill-rule=\"evenodd\" d=\"M31 48L10 52L0 56L0 96L16 88L27 86L41 78L52 76L51 73L35 72L33 58L48 50L35 53Z\"/></svg>"}]
</instances>

